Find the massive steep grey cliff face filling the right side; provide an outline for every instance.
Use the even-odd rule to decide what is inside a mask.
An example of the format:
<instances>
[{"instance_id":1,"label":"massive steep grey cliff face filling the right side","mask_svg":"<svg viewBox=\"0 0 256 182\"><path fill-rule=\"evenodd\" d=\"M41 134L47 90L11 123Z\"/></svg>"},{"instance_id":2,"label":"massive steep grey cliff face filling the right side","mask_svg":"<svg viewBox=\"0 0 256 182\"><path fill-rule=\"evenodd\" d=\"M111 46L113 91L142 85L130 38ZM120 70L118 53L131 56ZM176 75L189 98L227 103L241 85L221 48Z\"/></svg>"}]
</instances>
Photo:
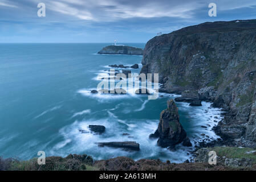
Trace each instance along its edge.
<instances>
[{"instance_id":1,"label":"massive steep grey cliff face filling the right side","mask_svg":"<svg viewBox=\"0 0 256 182\"><path fill-rule=\"evenodd\" d=\"M143 73L159 73L164 92L196 90L227 114L217 134L256 142L256 20L202 23L149 40Z\"/></svg>"}]
</instances>

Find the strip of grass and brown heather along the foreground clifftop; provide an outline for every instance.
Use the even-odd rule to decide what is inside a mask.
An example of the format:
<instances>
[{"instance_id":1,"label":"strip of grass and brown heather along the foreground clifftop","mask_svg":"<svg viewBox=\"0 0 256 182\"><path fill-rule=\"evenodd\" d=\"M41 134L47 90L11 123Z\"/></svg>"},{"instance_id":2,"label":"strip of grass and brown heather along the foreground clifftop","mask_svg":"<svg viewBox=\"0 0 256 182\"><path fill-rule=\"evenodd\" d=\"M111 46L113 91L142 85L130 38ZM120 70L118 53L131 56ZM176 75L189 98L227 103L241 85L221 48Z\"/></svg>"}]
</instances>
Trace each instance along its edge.
<instances>
[{"instance_id":1,"label":"strip of grass and brown heather along the foreground clifftop","mask_svg":"<svg viewBox=\"0 0 256 182\"><path fill-rule=\"evenodd\" d=\"M256 164L256 151L251 148L213 147L218 156L235 159L253 159ZM227 171L256 170L252 167L227 167L224 164L210 165L208 163L180 163L160 160L133 160L127 157L117 157L108 160L94 161L87 155L68 155L66 158L51 156L46 158L46 165L38 165L37 159L15 160L0 158L0 171Z\"/></svg>"}]
</instances>

